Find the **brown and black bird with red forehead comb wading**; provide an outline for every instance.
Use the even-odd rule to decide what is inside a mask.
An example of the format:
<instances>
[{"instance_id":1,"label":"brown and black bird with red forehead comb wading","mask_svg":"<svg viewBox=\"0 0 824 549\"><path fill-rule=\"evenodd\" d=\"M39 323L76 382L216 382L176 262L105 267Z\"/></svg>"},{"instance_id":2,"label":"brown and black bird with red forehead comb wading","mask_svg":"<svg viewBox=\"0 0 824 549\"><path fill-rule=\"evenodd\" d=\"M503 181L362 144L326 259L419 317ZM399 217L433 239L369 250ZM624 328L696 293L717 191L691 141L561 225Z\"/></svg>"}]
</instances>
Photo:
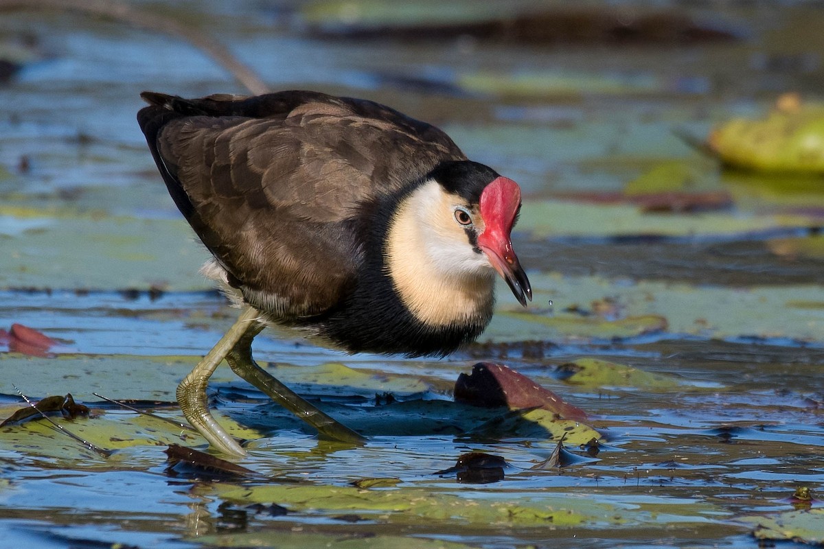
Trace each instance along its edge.
<instances>
[{"instance_id":1,"label":"brown and black bird with red forehead comb wading","mask_svg":"<svg viewBox=\"0 0 824 549\"><path fill-rule=\"evenodd\" d=\"M532 299L511 240L521 188L435 126L319 91L141 97L157 169L211 254L202 272L241 308L176 392L213 449L246 454L208 410L224 359L321 435L364 440L255 363L266 326L350 353L447 356L489 324L496 273Z\"/></svg>"}]
</instances>

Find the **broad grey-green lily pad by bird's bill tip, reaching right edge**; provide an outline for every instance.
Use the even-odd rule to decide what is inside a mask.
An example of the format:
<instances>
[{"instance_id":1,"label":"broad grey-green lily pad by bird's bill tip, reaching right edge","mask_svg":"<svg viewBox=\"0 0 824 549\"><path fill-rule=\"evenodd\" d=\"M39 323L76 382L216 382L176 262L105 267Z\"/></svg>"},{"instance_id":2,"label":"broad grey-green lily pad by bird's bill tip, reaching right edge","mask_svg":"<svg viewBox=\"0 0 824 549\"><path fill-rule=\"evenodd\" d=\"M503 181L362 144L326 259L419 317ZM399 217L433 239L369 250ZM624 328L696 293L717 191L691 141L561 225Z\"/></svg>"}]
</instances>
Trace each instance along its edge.
<instances>
[{"instance_id":1,"label":"broad grey-green lily pad by bird's bill tip, reaching right edge","mask_svg":"<svg viewBox=\"0 0 824 549\"><path fill-rule=\"evenodd\" d=\"M607 295L620 295L626 324L611 324L594 317L579 317L557 313L563 320L553 322L550 312L537 309L536 314L520 309L502 310L496 314L481 341L588 341L588 337L611 337L642 333L654 328L655 319L666 313L670 334L691 334L699 337L756 337L820 342L824 319L819 307L788 307L788 304L817 304L824 301L824 292L817 284L784 284L781 286L725 287L691 285L665 281L611 280L603 277L564 277L555 273L530 272L533 303L553 301L553 309L564 309L577 303L589 303ZM755 281L755 280L754 280ZM505 286L501 286L505 295ZM531 309L532 310L532 309ZM648 324L632 324L632 319L647 319ZM660 322L660 320L658 321ZM634 328L634 332L630 329ZM578 332L577 330L580 329ZM625 330L625 331L624 331ZM647 329L648 331L648 329ZM623 332L623 333L622 333ZM577 334L577 335L576 335ZM581 335L583 334L583 335Z\"/></svg>"}]
</instances>

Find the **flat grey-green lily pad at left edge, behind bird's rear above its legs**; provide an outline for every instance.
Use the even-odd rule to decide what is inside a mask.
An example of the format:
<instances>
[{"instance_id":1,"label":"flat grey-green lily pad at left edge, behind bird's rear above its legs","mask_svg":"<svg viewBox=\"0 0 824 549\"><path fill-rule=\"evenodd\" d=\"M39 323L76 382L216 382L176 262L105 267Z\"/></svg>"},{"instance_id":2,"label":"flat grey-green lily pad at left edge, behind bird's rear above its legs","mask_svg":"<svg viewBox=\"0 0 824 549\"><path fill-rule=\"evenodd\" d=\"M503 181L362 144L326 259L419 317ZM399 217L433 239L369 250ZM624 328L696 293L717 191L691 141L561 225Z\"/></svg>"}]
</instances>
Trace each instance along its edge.
<instances>
[{"instance_id":1,"label":"flat grey-green lily pad at left edge, behind bird's rear above its legs","mask_svg":"<svg viewBox=\"0 0 824 549\"><path fill-rule=\"evenodd\" d=\"M2 207L0 230L0 287L209 286L185 221Z\"/></svg>"}]
</instances>

